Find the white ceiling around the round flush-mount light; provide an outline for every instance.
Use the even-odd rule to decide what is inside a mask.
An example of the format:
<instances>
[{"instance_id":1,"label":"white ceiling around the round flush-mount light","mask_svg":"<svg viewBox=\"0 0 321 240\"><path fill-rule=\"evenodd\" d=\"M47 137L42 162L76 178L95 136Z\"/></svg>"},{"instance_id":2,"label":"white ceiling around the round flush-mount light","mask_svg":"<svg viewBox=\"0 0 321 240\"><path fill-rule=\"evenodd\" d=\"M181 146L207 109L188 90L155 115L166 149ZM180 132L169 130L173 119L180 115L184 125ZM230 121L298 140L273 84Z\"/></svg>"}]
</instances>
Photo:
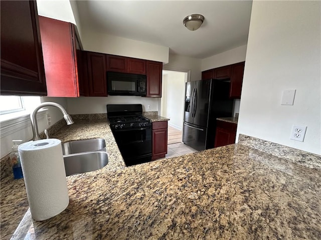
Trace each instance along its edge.
<instances>
[{"instance_id":1,"label":"white ceiling around the round flush-mount light","mask_svg":"<svg viewBox=\"0 0 321 240\"><path fill-rule=\"evenodd\" d=\"M82 30L169 46L171 53L206 58L247 43L252 1L77 1ZM183 25L193 13L205 21Z\"/></svg>"}]
</instances>

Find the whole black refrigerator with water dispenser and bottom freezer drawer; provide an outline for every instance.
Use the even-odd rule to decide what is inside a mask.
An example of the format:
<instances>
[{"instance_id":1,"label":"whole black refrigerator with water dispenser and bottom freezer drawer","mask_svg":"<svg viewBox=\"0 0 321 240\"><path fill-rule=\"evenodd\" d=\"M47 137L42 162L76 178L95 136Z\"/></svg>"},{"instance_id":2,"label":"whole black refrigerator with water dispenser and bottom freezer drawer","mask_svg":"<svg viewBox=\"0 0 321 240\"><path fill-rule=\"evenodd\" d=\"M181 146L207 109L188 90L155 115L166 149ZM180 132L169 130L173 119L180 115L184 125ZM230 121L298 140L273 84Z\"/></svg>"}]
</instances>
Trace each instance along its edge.
<instances>
[{"instance_id":1,"label":"whole black refrigerator with water dispenser and bottom freezer drawer","mask_svg":"<svg viewBox=\"0 0 321 240\"><path fill-rule=\"evenodd\" d=\"M183 142L196 150L214 147L216 118L232 116L230 79L189 81L185 87Z\"/></svg>"}]
</instances>

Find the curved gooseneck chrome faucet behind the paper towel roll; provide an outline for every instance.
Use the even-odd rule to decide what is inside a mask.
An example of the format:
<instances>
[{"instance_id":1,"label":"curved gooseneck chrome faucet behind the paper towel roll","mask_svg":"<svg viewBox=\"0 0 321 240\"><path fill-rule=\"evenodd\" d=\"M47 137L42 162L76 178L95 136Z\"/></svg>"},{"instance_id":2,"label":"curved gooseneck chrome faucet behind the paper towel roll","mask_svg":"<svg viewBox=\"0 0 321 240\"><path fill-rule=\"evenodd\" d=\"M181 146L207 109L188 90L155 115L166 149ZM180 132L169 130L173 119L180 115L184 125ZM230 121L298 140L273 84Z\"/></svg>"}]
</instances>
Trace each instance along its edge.
<instances>
[{"instance_id":1,"label":"curved gooseneck chrome faucet behind the paper towel roll","mask_svg":"<svg viewBox=\"0 0 321 240\"><path fill-rule=\"evenodd\" d=\"M67 122L67 125L70 125L72 123L74 123L74 121L72 120L71 116L68 114L68 112L65 110L65 108L56 103L56 102L43 102L41 103L39 106L36 107L36 109L30 113L30 118L31 118L31 127L32 127L32 133L33 133L33 138L32 140L35 141L35 140L40 140L40 136L39 136L39 131L38 131L38 124L37 124L37 112L40 108L43 108L44 106L56 106L58 107L62 113L64 114L64 118Z\"/></svg>"}]
</instances>

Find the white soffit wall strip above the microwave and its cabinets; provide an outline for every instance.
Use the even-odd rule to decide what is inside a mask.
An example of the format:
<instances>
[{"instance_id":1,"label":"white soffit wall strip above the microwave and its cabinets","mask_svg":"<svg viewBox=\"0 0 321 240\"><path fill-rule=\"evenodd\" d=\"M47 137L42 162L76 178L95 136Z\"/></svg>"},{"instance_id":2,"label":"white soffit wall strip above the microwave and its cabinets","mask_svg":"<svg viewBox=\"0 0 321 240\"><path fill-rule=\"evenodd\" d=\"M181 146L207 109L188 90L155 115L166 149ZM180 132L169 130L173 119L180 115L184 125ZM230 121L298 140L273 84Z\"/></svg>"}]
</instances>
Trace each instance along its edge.
<instances>
[{"instance_id":1,"label":"white soffit wall strip above the microwave and its cabinets","mask_svg":"<svg viewBox=\"0 0 321 240\"><path fill-rule=\"evenodd\" d=\"M82 29L84 50L167 63L169 47Z\"/></svg>"}]
</instances>

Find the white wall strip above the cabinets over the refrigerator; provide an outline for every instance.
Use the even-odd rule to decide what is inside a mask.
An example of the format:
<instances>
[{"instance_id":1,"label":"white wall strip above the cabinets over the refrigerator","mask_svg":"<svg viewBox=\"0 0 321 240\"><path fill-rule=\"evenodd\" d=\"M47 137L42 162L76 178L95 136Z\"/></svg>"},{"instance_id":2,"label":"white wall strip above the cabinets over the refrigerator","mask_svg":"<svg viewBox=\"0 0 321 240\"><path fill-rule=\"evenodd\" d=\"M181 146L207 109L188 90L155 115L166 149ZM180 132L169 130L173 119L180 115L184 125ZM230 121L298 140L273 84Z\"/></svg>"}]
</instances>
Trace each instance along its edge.
<instances>
[{"instance_id":1,"label":"white wall strip above the cabinets over the refrigerator","mask_svg":"<svg viewBox=\"0 0 321 240\"><path fill-rule=\"evenodd\" d=\"M242 45L231 50L224 51L216 55L202 59L202 71L220 66L230 65L240 61L245 61L246 46L247 45Z\"/></svg>"}]
</instances>

